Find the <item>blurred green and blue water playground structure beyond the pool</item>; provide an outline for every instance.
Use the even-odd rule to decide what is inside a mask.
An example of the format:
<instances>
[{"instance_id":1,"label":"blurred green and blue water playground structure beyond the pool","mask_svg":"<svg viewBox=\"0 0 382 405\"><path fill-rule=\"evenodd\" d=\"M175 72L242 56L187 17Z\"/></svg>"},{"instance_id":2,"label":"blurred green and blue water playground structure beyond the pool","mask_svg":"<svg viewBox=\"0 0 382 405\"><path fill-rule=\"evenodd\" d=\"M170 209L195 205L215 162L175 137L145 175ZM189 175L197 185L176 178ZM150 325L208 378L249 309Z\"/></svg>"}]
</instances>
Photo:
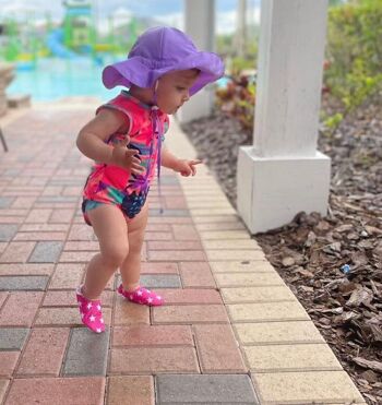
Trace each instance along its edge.
<instances>
[{"instance_id":1,"label":"blurred green and blue water playground structure beyond the pool","mask_svg":"<svg viewBox=\"0 0 382 405\"><path fill-rule=\"evenodd\" d=\"M103 63L105 56L126 53L139 35L139 23L131 17L120 24L118 15L108 19L108 32L100 35L95 23L92 1L67 0L62 2L64 16L53 24L50 15L37 26L34 15L24 21L8 16L0 21L0 60L13 62L17 70L36 68L39 58L72 59L91 57Z\"/></svg>"}]
</instances>

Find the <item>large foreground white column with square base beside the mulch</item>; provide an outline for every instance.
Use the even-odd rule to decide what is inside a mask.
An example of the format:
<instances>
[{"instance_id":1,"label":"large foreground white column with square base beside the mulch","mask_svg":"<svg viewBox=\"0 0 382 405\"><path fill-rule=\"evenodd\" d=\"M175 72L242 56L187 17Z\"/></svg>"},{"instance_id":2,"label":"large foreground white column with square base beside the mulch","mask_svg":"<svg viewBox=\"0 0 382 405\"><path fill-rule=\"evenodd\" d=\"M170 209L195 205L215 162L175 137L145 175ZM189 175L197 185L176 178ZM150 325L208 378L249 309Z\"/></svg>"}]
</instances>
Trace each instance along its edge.
<instances>
[{"instance_id":1,"label":"large foreground white column with square base beside the mulch","mask_svg":"<svg viewBox=\"0 0 382 405\"><path fill-rule=\"evenodd\" d=\"M326 214L330 158L317 151L327 0L263 0L253 146L238 158L251 233L300 211Z\"/></svg>"}]
</instances>

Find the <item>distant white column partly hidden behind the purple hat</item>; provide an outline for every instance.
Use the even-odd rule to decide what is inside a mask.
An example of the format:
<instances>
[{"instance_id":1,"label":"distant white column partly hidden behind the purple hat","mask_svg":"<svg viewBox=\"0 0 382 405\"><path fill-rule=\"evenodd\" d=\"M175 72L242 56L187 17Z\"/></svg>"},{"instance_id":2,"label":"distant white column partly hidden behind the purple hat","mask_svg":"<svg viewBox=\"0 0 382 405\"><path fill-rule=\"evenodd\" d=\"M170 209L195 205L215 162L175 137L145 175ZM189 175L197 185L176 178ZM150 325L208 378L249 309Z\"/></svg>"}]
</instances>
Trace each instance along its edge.
<instances>
[{"instance_id":1,"label":"distant white column partly hidden behind the purple hat","mask_svg":"<svg viewBox=\"0 0 382 405\"><path fill-rule=\"evenodd\" d=\"M191 37L200 50L214 51L215 49L215 1L186 0L184 1L184 32ZM206 117L213 107L213 90L208 86L198 92L180 109L178 118L188 122L196 118Z\"/></svg>"}]
</instances>

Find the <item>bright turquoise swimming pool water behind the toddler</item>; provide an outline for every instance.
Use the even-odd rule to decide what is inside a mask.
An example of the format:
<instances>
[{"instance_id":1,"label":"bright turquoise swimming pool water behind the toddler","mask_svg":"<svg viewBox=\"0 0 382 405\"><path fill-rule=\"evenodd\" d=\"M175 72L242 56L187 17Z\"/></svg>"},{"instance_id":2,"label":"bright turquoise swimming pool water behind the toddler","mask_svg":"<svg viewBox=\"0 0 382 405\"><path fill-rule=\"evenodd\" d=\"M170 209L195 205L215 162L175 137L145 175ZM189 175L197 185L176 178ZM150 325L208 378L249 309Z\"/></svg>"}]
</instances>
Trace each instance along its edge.
<instances>
[{"instance_id":1,"label":"bright turquoise swimming pool water behind the toddler","mask_svg":"<svg viewBox=\"0 0 382 405\"><path fill-rule=\"evenodd\" d=\"M100 64L86 57L39 59L35 69L16 70L16 78L7 93L29 94L33 100L39 102L68 96L97 96L107 100L120 91L107 90L102 83L103 68L111 62L109 59Z\"/></svg>"}]
</instances>

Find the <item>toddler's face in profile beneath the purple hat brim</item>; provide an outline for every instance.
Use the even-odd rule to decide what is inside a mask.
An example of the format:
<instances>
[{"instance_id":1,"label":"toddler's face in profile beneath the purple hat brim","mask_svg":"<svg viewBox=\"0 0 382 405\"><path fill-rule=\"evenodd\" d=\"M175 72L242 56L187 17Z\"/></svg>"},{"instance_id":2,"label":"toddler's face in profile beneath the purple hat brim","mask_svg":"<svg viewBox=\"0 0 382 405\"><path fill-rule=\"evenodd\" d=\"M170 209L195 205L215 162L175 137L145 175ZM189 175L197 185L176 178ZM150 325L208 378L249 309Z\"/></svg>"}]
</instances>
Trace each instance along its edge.
<instances>
[{"instance_id":1,"label":"toddler's face in profile beneath the purple hat brim","mask_svg":"<svg viewBox=\"0 0 382 405\"><path fill-rule=\"evenodd\" d=\"M164 74L158 80L157 104L166 114L175 114L190 99L190 87L192 87L199 74L199 70L179 70Z\"/></svg>"}]
</instances>

